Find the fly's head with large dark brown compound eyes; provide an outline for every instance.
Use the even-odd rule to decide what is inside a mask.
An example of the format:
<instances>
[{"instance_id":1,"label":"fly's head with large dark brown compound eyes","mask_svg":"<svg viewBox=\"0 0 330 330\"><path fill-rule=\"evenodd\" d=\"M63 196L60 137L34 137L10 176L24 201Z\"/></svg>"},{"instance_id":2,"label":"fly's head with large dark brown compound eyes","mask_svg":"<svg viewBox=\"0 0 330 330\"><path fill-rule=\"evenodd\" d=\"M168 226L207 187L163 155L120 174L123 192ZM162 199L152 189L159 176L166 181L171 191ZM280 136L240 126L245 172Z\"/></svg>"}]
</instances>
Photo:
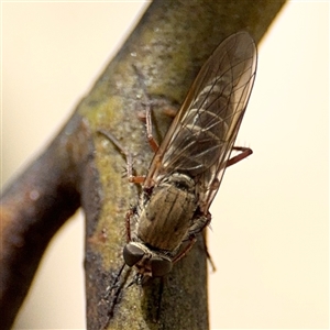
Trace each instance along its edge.
<instances>
[{"instance_id":1,"label":"fly's head with large dark brown compound eyes","mask_svg":"<svg viewBox=\"0 0 330 330\"><path fill-rule=\"evenodd\" d=\"M143 243L130 242L123 249L128 266L135 266L142 276L164 276L172 270L172 260L164 254L152 252Z\"/></svg>"}]
</instances>

